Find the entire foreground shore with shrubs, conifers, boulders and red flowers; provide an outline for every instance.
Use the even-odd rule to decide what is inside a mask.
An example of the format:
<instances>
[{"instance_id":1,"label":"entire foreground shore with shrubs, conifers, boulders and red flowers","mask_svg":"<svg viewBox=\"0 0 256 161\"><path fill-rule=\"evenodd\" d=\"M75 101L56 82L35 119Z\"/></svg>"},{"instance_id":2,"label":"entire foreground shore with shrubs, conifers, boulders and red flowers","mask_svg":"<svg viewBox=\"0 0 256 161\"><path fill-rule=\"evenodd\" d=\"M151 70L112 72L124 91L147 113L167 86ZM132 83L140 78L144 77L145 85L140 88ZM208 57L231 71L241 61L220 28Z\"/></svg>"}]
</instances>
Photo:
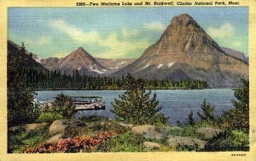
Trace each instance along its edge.
<instances>
[{"instance_id":1,"label":"entire foreground shore with shrubs, conifers, boulders and red flowers","mask_svg":"<svg viewBox=\"0 0 256 161\"><path fill-rule=\"evenodd\" d=\"M51 107L33 105L28 75L18 59L13 62L8 65L8 153L249 150L247 80L234 90L234 108L220 117L203 100L196 113L200 120L190 112L187 123L174 126L160 113L157 96L146 91L145 81L128 75L122 82L124 95L112 103L114 120L76 119L72 100L62 93Z\"/></svg>"}]
</instances>

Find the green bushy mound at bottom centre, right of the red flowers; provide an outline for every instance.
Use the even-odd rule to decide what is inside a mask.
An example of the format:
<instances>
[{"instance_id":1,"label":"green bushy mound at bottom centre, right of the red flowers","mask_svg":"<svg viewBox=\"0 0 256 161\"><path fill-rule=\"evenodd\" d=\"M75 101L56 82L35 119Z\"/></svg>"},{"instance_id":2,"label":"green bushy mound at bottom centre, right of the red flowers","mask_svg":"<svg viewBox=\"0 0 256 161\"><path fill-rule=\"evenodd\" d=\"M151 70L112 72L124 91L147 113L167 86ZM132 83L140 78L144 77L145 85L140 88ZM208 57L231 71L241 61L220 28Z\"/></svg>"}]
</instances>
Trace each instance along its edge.
<instances>
[{"instance_id":1,"label":"green bushy mound at bottom centre, right of the red flowers","mask_svg":"<svg viewBox=\"0 0 256 161\"><path fill-rule=\"evenodd\" d=\"M122 133L106 143L104 152L146 152L146 148L142 145L144 141L142 135Z\"/></svg>"}]
</instances>

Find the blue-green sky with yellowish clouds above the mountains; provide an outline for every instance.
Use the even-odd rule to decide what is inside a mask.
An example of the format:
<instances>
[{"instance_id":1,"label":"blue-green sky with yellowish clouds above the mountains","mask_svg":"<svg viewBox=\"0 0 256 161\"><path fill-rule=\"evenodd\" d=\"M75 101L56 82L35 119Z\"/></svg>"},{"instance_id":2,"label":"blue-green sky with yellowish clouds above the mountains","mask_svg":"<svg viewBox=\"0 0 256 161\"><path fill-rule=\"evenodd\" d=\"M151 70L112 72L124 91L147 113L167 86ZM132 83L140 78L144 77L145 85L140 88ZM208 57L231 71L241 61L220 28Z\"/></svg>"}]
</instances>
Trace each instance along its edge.
<instances>
[{"instance_id":1,"label":"blue-green sky with yellowish clouds above the mountains","mask_svg":"<svg viewBox=\"0 0 256 161\"><path fill-rule=\"evenodd\" d=\"M80 46L97 58L139 58L179 14L188 13L220 46L248 55L248 8L9 8L8 39L42 58Z\"/></svg>"}]
</instances>

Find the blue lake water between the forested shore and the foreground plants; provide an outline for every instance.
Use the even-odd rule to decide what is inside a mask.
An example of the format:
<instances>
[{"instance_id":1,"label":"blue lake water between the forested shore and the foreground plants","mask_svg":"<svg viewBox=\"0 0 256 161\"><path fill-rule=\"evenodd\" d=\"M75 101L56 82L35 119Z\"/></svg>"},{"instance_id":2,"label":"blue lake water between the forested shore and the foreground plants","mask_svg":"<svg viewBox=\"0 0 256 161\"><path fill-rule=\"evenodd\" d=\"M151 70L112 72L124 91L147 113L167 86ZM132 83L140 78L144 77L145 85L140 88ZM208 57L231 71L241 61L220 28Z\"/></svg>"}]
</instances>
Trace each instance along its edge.
<instances>
[{"instance_id":1,"label":"blue lake water between the forested shore and the foreground plants","mask_svg":"<svg viewBox=\"0 0 256 161\"><path fill-rule=\"evenodd\" d=\"M60 91L36 91L38 101L52 100L58 93L63 92L66 95L84 95L84 96L102 96L106 102L105 110L93 110L78 112L77 117L89 115L102 115L108 118L114 118L111 112L111 102L124 91L111 90L60 90ZM196 113L200 111L203 99L210 101L215 106L215 115L220 115L223 111L232 108L233 90L232 89L206 89L206 90L152 90L157 94L159 106L162 107L164 115L169 117L169 122L176 124L176 121L186 122L188 113L193 111L193 116L198 119Z\"/></svg>"}]
</instances>

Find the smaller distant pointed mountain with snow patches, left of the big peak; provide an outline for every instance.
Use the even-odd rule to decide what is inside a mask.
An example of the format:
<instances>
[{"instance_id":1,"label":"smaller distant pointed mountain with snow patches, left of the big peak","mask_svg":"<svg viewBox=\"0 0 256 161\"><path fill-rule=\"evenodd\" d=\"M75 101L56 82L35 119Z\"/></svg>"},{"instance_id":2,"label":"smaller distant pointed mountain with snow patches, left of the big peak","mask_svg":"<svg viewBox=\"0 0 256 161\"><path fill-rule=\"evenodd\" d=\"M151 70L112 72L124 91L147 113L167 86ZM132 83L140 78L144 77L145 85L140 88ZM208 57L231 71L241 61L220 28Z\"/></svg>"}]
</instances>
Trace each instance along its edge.
<instances>
[{"instance_id":1,"label":"smaller distant pointed mountain with snow patches, left of the big peak","mask_svg":"<svg viewBox=\"0 0 256 161\"><path fill-rule=\"evenodd\" d=\"M80 74L85 75L109 75L135 61L135 59L94 58L81 47L65 58L42 59L36 55L33 55L33 58L48 70L60 70L67 74L72 74L73 70L78 70Z\"/></svg>"}]
</instances>

